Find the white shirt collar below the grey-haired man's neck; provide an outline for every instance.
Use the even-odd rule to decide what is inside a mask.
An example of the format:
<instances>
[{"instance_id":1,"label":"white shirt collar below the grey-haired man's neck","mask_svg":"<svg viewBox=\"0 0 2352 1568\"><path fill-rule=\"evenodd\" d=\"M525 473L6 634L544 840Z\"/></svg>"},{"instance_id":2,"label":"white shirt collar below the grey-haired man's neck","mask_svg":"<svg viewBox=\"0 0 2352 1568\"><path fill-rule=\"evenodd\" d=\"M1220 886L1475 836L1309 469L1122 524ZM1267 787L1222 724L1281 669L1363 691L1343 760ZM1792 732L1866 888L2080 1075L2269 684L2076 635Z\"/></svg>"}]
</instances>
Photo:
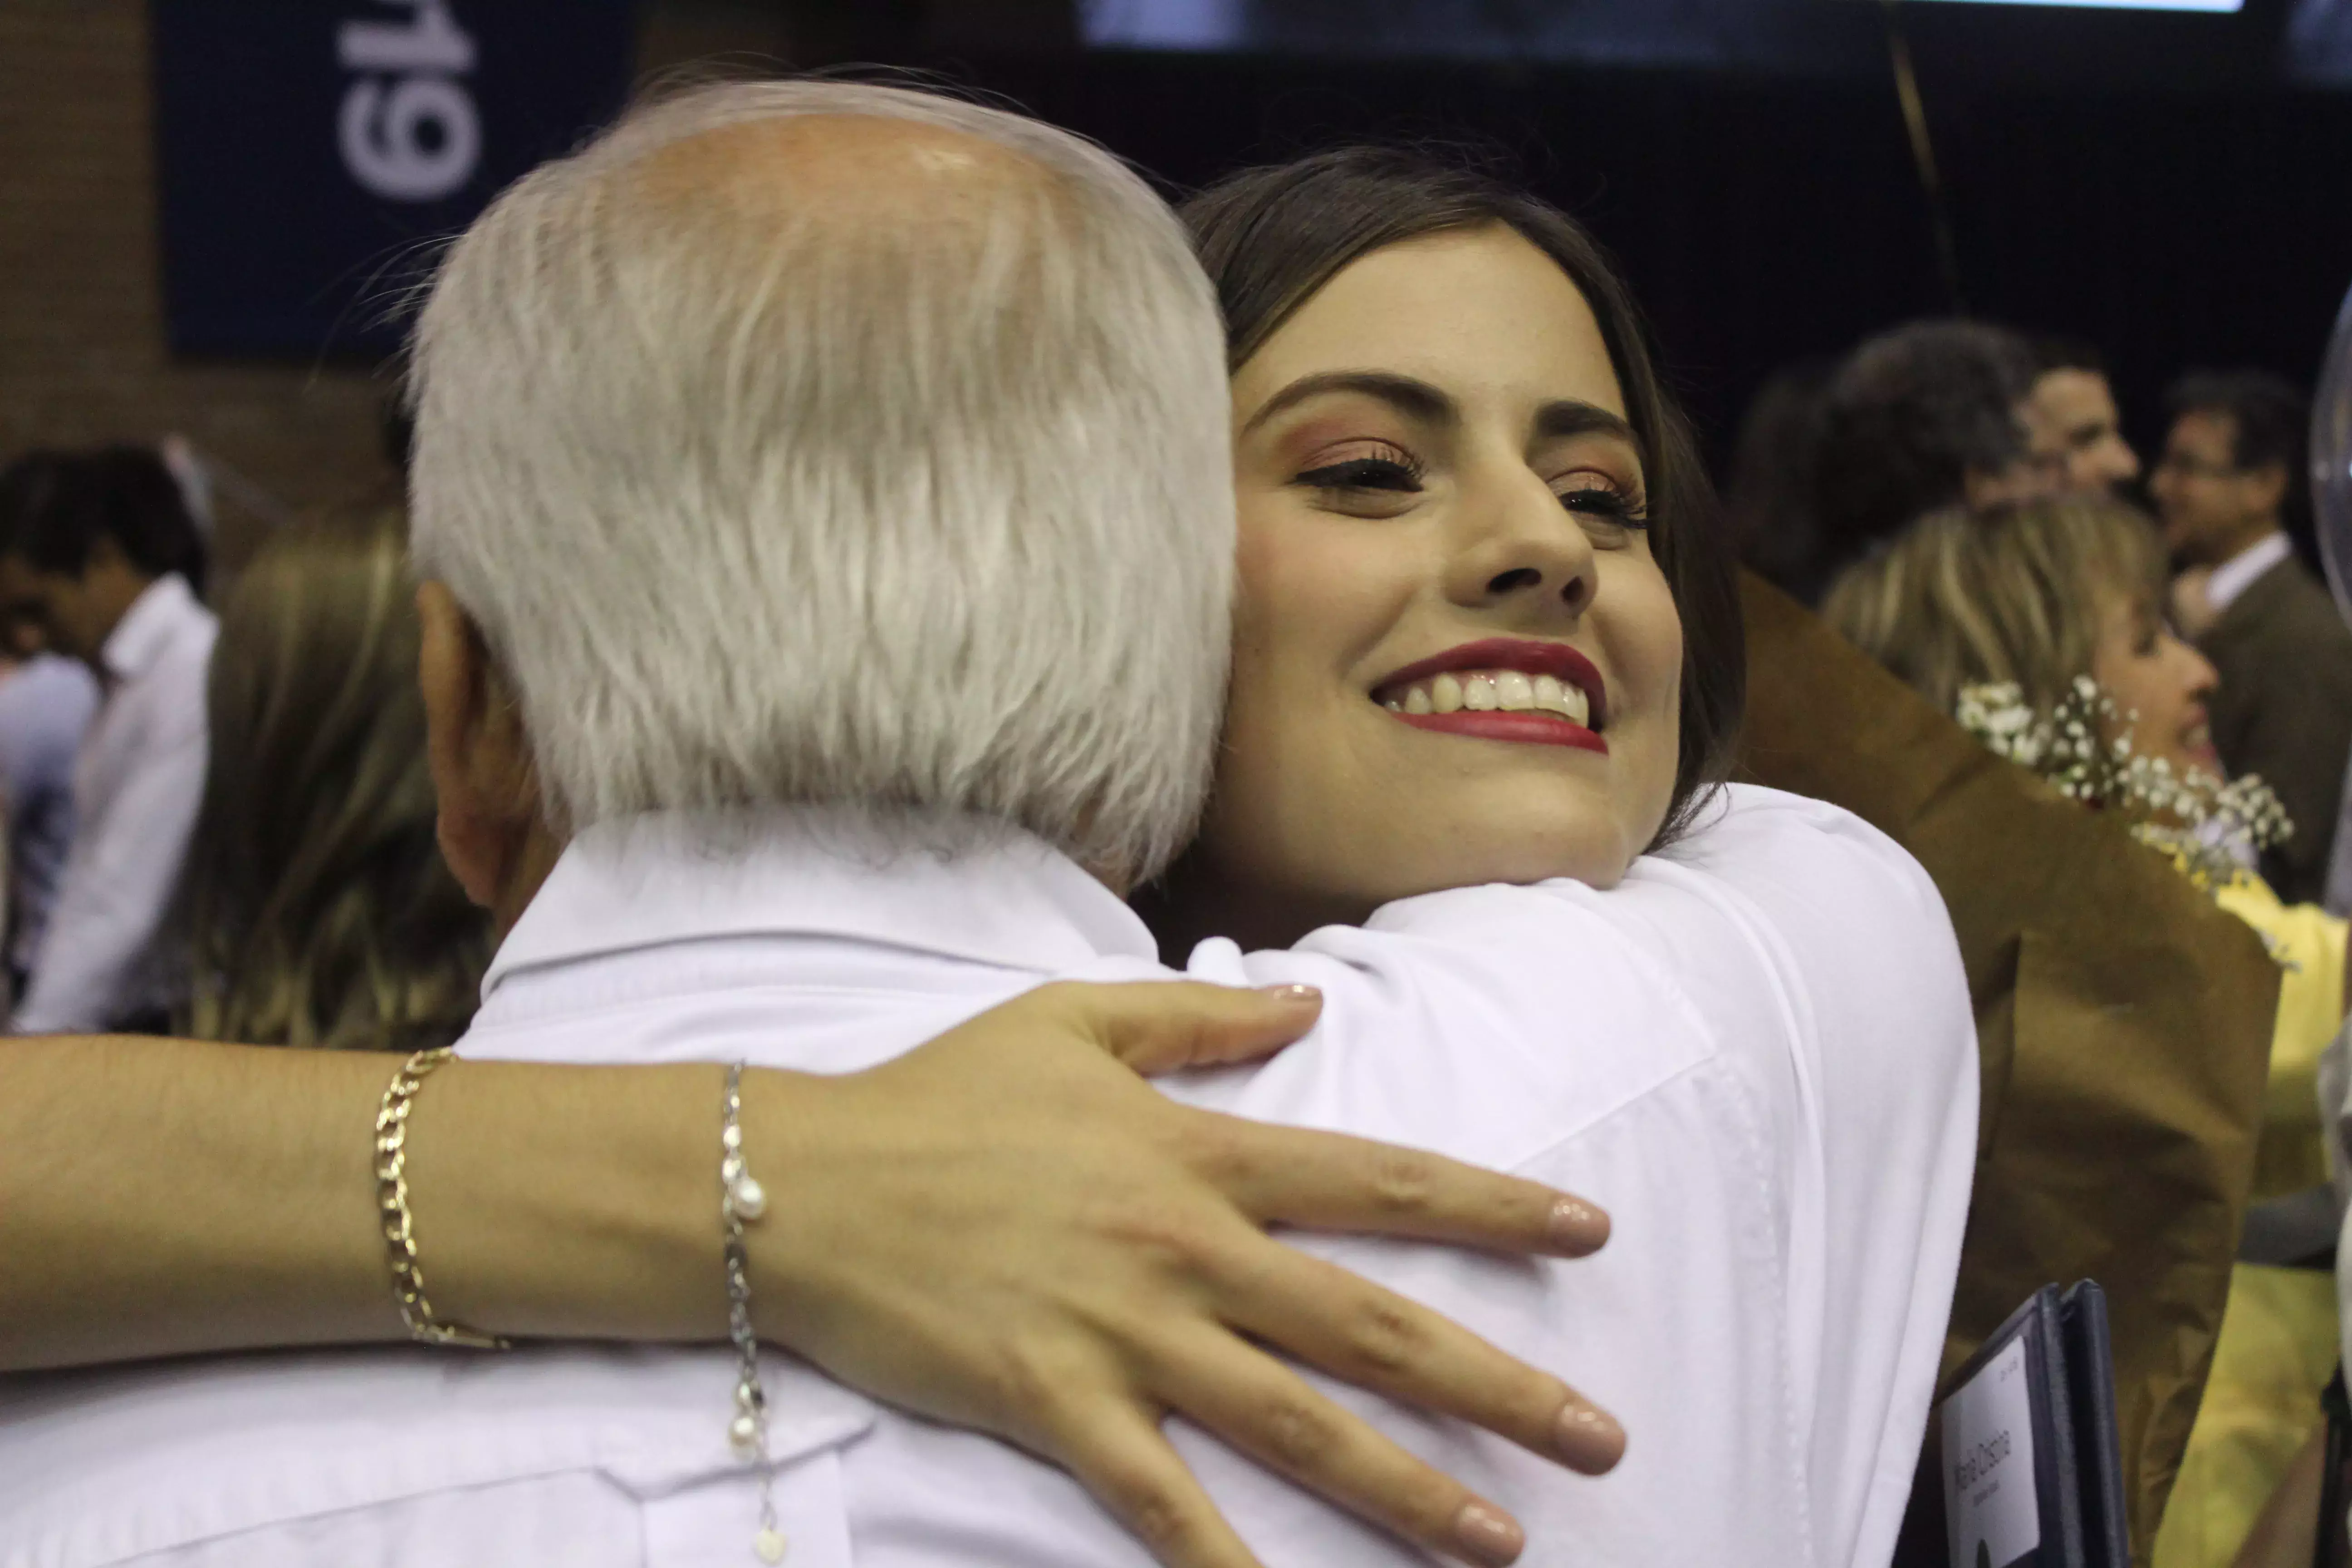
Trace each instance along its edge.
<instances>
[{"instance_id":1,"label":"white shirt collar below the grey-haired man's neck","mask_svg":"<svg viewBox=\"0 0 2352 1568\"><path fill-rule=\"evenodd\" d=\"M1044 839L950 813L656 811L583 830L482 976L701 938L830 936L1056 973L1157 959L1150 931Z\"/></svg>"}]
</instances>

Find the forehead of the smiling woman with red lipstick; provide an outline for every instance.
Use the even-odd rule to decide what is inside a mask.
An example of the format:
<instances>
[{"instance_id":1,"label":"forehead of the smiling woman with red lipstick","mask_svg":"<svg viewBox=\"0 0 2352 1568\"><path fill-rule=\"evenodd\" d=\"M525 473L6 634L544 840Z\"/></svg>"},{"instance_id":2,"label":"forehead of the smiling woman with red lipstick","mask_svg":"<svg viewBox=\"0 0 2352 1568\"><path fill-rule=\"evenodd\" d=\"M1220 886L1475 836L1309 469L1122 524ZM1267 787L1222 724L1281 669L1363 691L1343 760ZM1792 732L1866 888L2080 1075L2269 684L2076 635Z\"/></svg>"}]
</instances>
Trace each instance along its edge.
<instances>
[{"instance_id":1,"label":"forehead of the smiling woman with red lipstick","mask_svg":"<svg viewBox=\"0 0 2352 1568\"><path fill-rule=\"evenodd\" d=\"M1359 256L1265 339L1235 376L1247 416L1301 376L1385 369L1468 407L1590 402L1618 416L1609 346L1557 261L1491 223Z\"/></svg>"}]
</instances>

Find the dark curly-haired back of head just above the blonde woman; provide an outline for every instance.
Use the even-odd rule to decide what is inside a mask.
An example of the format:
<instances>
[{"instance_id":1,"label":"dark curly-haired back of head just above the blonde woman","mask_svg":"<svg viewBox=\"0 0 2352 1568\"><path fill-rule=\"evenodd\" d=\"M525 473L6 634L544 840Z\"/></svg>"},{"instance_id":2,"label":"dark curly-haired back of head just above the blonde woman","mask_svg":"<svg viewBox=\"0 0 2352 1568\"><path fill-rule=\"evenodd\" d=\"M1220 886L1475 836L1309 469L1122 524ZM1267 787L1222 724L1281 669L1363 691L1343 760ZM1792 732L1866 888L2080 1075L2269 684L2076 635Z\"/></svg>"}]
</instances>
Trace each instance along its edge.
<instances>
[{"instance_id":1,"label":"dark curly-haired back of head just above the blonde woman","mask_svg":"<svg viewBox=\"0 0 2352 1568\"><path fill-rule=\"evenodd\" d=\"M1910 322L1856 348L1830 381L1816 505L1832 557L1969 498L2025 458L2025 339L1987 322Z\"/></svg>"}]
</instances>

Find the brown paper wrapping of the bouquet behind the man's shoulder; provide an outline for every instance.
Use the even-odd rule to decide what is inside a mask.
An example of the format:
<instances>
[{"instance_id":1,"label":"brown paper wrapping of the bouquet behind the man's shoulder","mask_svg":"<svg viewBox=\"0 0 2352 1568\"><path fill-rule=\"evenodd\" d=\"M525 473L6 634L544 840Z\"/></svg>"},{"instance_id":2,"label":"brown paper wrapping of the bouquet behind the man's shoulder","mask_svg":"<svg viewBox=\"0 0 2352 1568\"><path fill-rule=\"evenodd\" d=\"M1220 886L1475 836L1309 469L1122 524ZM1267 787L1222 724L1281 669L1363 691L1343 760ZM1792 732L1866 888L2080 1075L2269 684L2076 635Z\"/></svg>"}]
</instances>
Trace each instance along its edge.
<instances>
[{"instance_id":1,"label":"brown paper wrapping of the bouquet behind the man's shoulder","mask_svg":"<svg viewBox=\"0 0 2352 1568\"><path fill-rule=\"evenodd\" d=\"M2100 1281L2145 1561L2230 1291L2279 971L2117 823L1997 759L1776 588L1750 576L1743 597L1740 773L1917 856L1969 969L1983 1119L1945 1373L2034 1288Z\"/></svg>"}]
</instances>

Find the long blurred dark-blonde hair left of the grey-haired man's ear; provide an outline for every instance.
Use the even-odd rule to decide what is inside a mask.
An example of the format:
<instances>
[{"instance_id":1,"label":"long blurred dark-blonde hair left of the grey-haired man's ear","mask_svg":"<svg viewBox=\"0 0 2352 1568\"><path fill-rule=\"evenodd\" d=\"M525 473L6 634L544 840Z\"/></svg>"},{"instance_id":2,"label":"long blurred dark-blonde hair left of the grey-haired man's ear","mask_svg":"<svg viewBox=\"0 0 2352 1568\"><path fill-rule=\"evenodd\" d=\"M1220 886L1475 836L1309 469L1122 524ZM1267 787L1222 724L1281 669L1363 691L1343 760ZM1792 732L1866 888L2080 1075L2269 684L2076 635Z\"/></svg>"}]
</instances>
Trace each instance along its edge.
<instances>
[{"instance_id":1,"label":"long blurred dark-blonde hair left of the grey-haired man's ear","mask_svg":"<svg viewBox=\"0 0 2352 1568\"><path fill-rule=\"evenodd\" d=\"M303 524L238 574L188 858L191 1034L445 1044L489 926L442 865L397 510Z\"/></svg>"}]
</instances>

